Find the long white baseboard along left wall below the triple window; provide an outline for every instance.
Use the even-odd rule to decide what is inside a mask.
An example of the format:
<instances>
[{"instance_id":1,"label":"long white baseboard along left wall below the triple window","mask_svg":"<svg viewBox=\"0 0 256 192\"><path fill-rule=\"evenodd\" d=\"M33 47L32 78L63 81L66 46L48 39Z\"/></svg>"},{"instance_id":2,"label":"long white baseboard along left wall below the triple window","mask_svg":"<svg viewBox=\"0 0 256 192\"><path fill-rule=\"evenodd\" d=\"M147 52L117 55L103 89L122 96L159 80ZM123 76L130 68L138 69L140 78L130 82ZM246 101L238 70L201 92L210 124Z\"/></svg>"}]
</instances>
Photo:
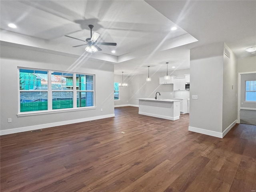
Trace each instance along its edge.
<instances>
[{"instance_id":1,"label":"long white baseboard along left wall below the triple window","mask_svg":"<svg viewBox=\"0 0 256 192\"><path fill-rule=\"evenodd\" d=\"M88 117L88 118L82 118L82 119L74 119L74 120L68 120L68 121L62 121L62 122L54 122L54 123L28 126L28 127L20 127L20 128L8 129L8 130L0 130L0 135L7 135L7 134L20 133L20 132L25 132L25 131L38 130L38 129L44 129L44 128L49 128L49 127L73 124L73 123L86 122L86 121L110 118L110 117L114 117L114 116L115 116L115 114L108 114L108 115Z\"/></svg>"}]
</instances>

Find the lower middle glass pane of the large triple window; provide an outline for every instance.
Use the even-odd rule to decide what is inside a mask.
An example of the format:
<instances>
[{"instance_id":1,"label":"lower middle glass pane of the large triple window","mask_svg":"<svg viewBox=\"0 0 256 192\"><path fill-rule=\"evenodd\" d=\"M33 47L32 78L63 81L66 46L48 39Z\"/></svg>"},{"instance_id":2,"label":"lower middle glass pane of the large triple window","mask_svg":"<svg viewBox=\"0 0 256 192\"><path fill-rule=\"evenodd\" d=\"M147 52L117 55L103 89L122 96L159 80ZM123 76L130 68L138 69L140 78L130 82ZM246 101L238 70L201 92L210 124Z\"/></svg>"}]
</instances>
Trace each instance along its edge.
<instances>
[{"instance_id":1,"label":"lower middle glass pane of the large triple window","mask_svg":"<svg viewBox=\"0 0 256 192\"><path fill-rule=\"evenodd\" d=\"M73 108L73 92L52 92L52 109Z\"/></svg>"}]
</instances>

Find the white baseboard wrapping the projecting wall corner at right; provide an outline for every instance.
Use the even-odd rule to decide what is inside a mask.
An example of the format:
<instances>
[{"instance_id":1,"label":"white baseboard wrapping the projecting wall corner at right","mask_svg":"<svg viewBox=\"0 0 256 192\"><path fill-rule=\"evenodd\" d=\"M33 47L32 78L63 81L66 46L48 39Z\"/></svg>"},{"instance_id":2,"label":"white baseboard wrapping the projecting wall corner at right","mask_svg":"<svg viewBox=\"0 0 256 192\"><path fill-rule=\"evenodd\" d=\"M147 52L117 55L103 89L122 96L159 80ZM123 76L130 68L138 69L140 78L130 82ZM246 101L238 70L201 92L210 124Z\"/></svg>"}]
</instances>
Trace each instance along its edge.
<instances>
[{"instance_id":1,"label":"white baseboard wrapping the projecting wall corner at right","mask_svg":"<svg viewBox=\"0 0 256 192\"><path fill-rule=\"evenodd\" d=\"M224 132L216 132L216 131L211 131L211 130L206 130L206 129L201 129L201 128L196 128L196 127L188 127L189 131L192 132L196 132L196 133L201 133L201 134L205 134L205 135L210 135L210 136L214 136L214 137L218 137L218 138L223 138L231 129L232 127L235 126L237 120L235 120L232 124L230 124L230 126L228 126L228 128L226 128L226 130L224 130Z\"/></svg>"}]
</instances>

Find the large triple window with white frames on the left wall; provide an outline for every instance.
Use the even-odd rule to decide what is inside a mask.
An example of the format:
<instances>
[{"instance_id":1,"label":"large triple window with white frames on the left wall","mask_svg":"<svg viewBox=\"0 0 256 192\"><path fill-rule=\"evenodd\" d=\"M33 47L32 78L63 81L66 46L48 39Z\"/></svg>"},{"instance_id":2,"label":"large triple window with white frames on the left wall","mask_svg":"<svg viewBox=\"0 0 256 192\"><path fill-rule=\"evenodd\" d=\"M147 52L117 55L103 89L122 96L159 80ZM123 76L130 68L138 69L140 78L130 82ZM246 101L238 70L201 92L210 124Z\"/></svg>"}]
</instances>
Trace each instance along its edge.
<instances>
[{"instance_id":1,"label":"large triple window with white frames on the left wall","mask_svg":"<svg viewBox=\"0 0 256 192\"><path fill-rule=\"evenodd\" d=\"M18 71L20 112L94 106L94 75L24 68Z\"/></svg>"}]
</instances>

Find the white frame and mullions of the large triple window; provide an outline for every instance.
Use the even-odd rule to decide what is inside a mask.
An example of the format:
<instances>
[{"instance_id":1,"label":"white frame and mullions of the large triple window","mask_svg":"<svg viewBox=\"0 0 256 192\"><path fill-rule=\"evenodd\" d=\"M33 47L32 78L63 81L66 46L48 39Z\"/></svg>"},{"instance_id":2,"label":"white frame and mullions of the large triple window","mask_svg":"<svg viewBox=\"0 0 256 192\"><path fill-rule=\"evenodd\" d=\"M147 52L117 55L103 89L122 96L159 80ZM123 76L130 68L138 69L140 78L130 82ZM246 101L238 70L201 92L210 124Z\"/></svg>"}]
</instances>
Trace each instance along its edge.
<instances>
[{"instance_id":1,"label":"white frame and mullions of the large triple window","mask_svg":"<svg viewBox=\"0 0 256 192\"><path fill-rule=\"evenodd\" d=\"M24 70L41 70L46 71L48 74L47 79L47 90L20 90L20 69ZM54 72L60 72L60 73L69 73L73 75L73 89L72 90L52 90L52 71ZM26 68L26 67L18 67L17 69L18 74L18 114L17 116L29 116L29 115L36 115L36 114L48 114L48 113L58 113L58 112L64 112L64 111L74 111L74 110L88 110L88 109L95 109L96 108L96 102L95 102L95 74L87 74L87 73L81 73L81 72L66 72L66 71L58 71L58 70L46 70L46 69L38 69L38 68ZM84 107L77 107L77 92L79 90L76 90L76 75L82 74L82 75L88 75L92 76L92 90L83 90L82 92L92 92L93 97L93 106L84 106ZM74 83L75 81L75 83ZM75 84L75 86L74 86ZM74 89L75 87L75 89ZM37 111L27 111L27 112L20 112L20 93L21 92L47 92L47 99L48 99L48 109L47 110L37 110ZM73 92L73 107L72 108L62 108L62 109L52 109L52 93L53 92ZM49 102L50 101L50 102Z\"/></svg>"}]
</instances>

